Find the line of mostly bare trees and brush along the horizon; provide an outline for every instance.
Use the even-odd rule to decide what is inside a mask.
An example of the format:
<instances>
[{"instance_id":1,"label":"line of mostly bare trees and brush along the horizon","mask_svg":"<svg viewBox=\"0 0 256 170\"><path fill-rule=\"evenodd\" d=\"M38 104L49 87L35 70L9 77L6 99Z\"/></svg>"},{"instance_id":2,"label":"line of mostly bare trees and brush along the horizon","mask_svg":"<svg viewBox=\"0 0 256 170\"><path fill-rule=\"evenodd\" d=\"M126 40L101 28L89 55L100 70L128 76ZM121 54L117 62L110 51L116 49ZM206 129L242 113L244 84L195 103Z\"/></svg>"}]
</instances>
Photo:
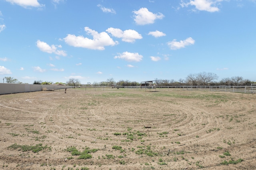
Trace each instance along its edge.
<instances>
[{"instance_id":1,"label":"line of mostly bare trees and brush along the horizon","mask_svg":"<svg viewBox=\"0 0 256 170\"><path fill-rule=\"evenodd\" d=\"M24 84L13 77L4 77L6 83L19 83ZM234 76L234 77L225 77L220 81L216 81L218 79L218 75L215 73L206 73L200 72L196 74L189 74L185 79L179 79L175 81L174 79L154 79L153 85L157 86L182 86L182 85L231 85L231 86L245 86L251 85L256 83L249 79L244 79L241 76ZM42 80L35 80L33 84L42 84L42 85L51 85L51 84L62 84L62 85L70 85L70 86L84 86L81 84L79 79L71 78L66 83L56 82L53 83L52 81L42 81ZM96 82L93 83L87 82L85 86L139 86L140 82L137 81L130 81L130 80L119 80L115 81L114 78L109 78L106 81Z\"/></svg>"}]
</instances>

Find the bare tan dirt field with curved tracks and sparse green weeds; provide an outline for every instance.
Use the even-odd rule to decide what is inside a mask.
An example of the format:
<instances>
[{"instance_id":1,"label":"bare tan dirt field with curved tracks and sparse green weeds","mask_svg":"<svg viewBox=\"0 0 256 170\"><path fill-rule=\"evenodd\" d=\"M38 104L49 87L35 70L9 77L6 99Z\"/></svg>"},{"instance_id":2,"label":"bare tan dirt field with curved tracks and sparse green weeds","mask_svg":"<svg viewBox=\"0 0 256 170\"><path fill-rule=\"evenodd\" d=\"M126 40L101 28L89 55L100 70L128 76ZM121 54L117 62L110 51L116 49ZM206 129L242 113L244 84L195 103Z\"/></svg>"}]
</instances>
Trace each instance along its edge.
<instances>
[{"instance_id":1,"label":"bare tan dirt field with curved tracks and sparse green weeds","mask_svg":"<svg viewBox=\"0 0 256 170\"><path fill-rule=\"evenodd\" d=\"M0 169L256 169L256 95L68 89L0 95Z\"/></svg>"}]
</instances>

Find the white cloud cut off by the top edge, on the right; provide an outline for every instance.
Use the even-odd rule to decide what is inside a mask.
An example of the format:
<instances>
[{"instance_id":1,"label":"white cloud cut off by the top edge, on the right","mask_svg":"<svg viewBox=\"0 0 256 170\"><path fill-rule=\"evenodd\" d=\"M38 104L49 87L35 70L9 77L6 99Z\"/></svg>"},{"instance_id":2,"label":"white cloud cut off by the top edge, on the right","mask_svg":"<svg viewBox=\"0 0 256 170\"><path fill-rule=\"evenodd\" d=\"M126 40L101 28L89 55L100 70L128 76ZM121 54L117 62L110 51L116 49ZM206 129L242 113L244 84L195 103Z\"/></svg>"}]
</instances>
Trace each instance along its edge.
<instances>
[{"instance_id":1,"label":"white cloud cut off by the top edge, on the right","mask_svg":"<svg viewBox=\"0 0 256 170\"><path fill-rule=\"evenodd\" d=\"M183 2L180 4L182 8L189 5L195 6L197 10L208 11L208 12L218 12L220 9L216 6L217 3L223 0L190 0L190 2Z\"/></svg>"}]
</instances>

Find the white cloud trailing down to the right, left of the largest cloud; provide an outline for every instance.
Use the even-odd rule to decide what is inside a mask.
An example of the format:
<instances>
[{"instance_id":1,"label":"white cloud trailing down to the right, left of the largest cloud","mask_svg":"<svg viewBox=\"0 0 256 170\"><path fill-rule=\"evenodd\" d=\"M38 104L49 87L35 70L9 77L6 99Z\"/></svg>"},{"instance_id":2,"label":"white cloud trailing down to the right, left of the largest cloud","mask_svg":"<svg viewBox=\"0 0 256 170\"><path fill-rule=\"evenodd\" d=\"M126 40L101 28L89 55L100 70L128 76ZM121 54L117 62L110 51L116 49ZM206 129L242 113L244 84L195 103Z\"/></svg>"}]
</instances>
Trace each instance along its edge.
<instances>
[{"instance_id":1,"label":"white cloud trailing down to the right, left of the largest cloud","mask_svg":"<svg viewBox=\"0 0 256 170\"><path fill-rule=\"evenodd\" d=\"M43 52L46 53L55 53L56 55L62 55L66 56L66 51L58 50L57 48L61 48L61 45L48 45L45 42L41 42L40 40L37 40L36 46Z\"/></svg>"}]
</instances>

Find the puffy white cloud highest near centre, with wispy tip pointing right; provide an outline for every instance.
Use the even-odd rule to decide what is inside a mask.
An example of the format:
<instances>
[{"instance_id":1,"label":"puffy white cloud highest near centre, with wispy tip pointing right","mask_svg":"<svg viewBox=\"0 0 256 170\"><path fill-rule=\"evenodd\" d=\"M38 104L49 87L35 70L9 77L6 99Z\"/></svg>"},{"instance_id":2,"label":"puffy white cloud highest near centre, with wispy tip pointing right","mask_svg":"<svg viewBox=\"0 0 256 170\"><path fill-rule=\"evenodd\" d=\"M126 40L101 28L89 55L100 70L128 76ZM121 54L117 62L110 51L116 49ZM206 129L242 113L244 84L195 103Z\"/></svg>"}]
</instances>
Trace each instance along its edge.
<instances>
[{"instance_id":1,"label":"puffy white cloud highest near centre, with wispy tip pointing right","mask_svg":"<svg viewBox=\"0 0 256 170\"><path fill-rule=\"evenodd\" d=\"M156 19L164 18L162 13L153 14L149 12L147 8L140 8L138 11L133 11L134 21L138 25L146 25L146 24L153 24Z\"/></svg>"}]
</instances>

